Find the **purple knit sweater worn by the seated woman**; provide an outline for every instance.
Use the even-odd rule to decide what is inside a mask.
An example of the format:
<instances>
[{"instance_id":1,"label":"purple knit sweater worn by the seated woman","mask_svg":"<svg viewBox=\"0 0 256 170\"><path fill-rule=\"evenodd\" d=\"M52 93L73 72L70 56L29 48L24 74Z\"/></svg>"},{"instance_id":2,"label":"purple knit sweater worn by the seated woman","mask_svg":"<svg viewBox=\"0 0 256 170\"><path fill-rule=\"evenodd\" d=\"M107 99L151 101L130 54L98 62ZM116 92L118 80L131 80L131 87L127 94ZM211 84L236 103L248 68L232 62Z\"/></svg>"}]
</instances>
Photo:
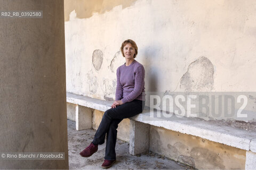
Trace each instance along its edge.
<instances>
[{"instance_id":1,"label":"purple knit sweater worn by the seated woman","mask_svg":"<svg viewBox=\"0 0 256 170\"><path fill-rule=\"evenodd\" d=\"M125 64L116 71L116 100L123 103L134 99L145 100L145 70L142 64L134 60L129 66Z\"/></svg>"}]
</instances>

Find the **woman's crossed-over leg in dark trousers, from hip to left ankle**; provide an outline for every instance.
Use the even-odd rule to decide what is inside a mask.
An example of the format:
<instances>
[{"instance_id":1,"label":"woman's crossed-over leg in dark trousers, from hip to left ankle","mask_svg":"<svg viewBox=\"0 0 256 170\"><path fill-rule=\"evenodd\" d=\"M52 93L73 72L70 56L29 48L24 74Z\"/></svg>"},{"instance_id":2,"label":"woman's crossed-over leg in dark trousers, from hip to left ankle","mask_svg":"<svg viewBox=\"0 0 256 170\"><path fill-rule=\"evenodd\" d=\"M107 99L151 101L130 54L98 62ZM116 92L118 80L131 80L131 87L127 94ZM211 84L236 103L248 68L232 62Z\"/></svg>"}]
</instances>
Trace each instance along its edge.
<instances>
[{"instance_id":1,"label":"woman's crossed-over leg in dark trousers, from hip to left ankle","mask_svg":"<svg viewBox=\"0 0 256 170\"><path fill-rule=\"evenodd\" d=\"M141 100L133 100L131 102L119 105L116 108L108 109L100 122L99 128L95 133L92 143L94 145L101 145L105 142L106 133L109 126L114 119L123 119L135 116L143 111L145 103Z\"/></svg>"}]
</instances>

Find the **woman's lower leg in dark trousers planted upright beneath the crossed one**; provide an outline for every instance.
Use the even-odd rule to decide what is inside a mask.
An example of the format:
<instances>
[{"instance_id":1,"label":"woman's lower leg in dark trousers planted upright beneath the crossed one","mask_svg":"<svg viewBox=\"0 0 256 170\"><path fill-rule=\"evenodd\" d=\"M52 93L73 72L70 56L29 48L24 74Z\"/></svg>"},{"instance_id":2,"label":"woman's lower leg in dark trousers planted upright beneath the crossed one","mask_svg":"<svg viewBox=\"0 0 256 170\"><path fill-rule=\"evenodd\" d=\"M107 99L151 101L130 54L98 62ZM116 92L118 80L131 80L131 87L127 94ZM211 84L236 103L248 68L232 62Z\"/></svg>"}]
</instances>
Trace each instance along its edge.
<instances>
[{"instance_id":1,"label":"woman's lower leg in dark trousers planted upright beneath the crossed one","mask_svg":"<svg viewBox=\"0 0 256 170\"><path fill-rule=\"evenodd\" d=\"M116 137L117 137L117 128L118 124L122 121L122 119L113 119L108 132L107 132L107 142L106 142L106 152L105 159L107 160L116 160Z\"/></svg>"}]
</instances>

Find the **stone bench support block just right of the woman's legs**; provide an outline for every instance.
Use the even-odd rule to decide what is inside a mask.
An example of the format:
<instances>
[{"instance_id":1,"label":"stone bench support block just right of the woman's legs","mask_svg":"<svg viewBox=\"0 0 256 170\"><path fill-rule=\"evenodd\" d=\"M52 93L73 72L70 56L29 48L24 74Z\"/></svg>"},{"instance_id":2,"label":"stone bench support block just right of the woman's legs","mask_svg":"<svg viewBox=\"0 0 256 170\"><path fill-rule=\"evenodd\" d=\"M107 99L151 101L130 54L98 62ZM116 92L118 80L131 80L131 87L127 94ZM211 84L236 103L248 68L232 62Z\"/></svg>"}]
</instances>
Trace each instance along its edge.
<instances>
[{"instance_id":1,"label":"stone bench support block just right of the woman's legs","mask_svg":"<svg viewBox=\"0 0 256 170\"><path fill-rule=\"evenodd\" d=\"M150 125L130 120L130 154L138 155L149 149Z\"/></svg>"}]
</instances>

